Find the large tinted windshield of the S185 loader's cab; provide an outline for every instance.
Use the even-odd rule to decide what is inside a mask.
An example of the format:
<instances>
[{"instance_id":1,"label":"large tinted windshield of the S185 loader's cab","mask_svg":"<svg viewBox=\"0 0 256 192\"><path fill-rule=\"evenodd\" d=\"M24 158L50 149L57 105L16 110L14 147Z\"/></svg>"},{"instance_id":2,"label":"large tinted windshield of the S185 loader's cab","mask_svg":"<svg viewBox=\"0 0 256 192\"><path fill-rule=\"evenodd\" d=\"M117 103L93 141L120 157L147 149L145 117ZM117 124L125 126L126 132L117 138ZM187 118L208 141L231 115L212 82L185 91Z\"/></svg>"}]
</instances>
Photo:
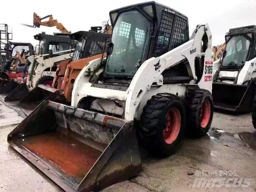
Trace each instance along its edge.
<instances>
[{"instance_id":1,"label":"large tinted windshield of the S185 loader's cab","mask_svg":"<svg viewBox=\"0 0 256 192\"><path fill-rule=\"evenodd\" d=\"M119 15L113 28L114 47L107 58L106 74L133 76L136 73L137 61L144 61L149 30L149 21L139 11Z\"/></svg>"}]
</instances>

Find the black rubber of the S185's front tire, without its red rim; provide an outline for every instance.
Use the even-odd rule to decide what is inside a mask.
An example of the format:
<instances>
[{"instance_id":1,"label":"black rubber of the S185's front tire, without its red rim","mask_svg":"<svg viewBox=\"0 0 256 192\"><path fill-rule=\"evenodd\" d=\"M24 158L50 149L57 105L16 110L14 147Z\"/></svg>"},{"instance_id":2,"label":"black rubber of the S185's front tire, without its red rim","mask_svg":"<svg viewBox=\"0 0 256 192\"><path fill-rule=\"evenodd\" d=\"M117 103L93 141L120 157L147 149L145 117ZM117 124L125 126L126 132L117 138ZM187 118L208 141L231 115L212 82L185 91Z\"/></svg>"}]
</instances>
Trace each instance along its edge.
<instances>
[{"instance_id":1,"label":"black rubber of the S185's front tire, without its red rim","mask_svg":"<svg viewBox=\"0 0 256 192\"><path fill-rule=\"evenodd\" d=\"M163 130L166 128L166 114L171 108L180 112L180 132L171 144L164 140ZM157 156L168 156L180 147L185 133L186 111L181 99L169 93L152 96L144 106L139 126L139 134L149 152Z\"/></svg>"}]
</instances>

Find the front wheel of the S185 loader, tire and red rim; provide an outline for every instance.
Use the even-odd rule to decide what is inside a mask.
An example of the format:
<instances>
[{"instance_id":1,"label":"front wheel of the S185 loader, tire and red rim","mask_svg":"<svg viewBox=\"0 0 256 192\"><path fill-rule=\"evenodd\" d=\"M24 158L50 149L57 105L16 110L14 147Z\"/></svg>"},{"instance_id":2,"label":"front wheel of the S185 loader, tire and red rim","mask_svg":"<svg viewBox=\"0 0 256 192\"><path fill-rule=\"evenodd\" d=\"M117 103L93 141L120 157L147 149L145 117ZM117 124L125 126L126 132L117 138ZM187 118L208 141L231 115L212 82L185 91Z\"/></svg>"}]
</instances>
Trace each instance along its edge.
<instances>
[{"instance_id":1,"label":"front wheel of the S185 loader, tire and red rim","mask_svg":"<svg viewBox=\"0 0 256 192\"><path fill-rule=\"evenodd\" d=\"M180 146L185 124L186 112L181 99L169 93L159 93L144 106L139 133L149 152L167 156Z\"/></svg>"}]
</instances>

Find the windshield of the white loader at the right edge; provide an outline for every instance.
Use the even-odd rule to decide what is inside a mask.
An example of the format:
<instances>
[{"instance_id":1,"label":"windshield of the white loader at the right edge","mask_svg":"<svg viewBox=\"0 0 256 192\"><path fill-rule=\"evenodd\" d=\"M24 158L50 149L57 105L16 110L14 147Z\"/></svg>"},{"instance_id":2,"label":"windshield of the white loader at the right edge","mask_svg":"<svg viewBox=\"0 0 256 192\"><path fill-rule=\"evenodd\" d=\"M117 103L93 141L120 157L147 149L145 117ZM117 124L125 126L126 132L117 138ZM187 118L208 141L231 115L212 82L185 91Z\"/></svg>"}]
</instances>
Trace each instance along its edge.
<instances>
[{"instance_id":1,"label":"windshield of the white loader at the right edge","mask_svg":"<svg viewBox=\"0 0 256 192\"><path fill-rule=\"evenodd\" d=\"M246 61L250 41L244 36L233 36L226 46L226 56L223 59L222 66L240 67Z\"/></svg>"}]
</instances>

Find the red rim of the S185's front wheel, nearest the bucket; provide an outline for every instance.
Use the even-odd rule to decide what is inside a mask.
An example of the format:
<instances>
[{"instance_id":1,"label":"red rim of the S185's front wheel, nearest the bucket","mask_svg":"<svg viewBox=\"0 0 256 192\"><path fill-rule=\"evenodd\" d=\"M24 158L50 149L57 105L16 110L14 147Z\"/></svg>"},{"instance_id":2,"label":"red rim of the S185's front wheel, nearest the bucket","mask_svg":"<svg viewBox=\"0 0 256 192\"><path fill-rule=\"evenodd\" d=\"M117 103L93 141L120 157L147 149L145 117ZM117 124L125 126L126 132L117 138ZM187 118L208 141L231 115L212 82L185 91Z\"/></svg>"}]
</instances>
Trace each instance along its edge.
<instances>
[{"instance_id":1,"label":"red rim of the S185's front wheel, nearest the bucket","mask_svg":"<svg viewBox=\"0 0 256 192\"><path fill-rule=\"evenodd\" d=\"M172 108L168 111L165 118L166 128L163 130L164 141L168 144L172 144L180 133L180 111L176 108Z\"/></svg>"}]
</instances>

